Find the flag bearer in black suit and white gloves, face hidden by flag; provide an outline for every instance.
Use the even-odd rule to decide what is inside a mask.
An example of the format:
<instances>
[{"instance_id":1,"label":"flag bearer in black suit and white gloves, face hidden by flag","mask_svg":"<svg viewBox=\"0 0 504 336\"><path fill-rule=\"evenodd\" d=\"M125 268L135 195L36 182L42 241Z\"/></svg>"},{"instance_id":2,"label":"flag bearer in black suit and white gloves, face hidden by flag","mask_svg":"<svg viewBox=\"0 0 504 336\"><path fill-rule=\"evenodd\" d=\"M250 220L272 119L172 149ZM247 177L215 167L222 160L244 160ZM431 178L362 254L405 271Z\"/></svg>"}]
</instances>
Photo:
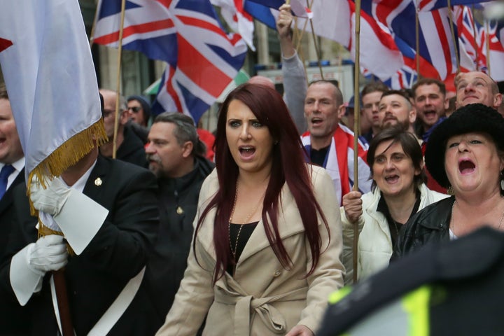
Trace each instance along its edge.
<instances>
[{"instance_id":1,"label":"flag bearer in black suit and white gloves, face hidden by flag","mask_svg":"<svg viewBox=\"0 0 504 336\"><path fill-rule=\"evenodd\" d=\"M152 335L154 308L139 284L158 231L155 176L94 148L45 181L45 189L40 185L30 185L38 223L25 185L13 190L15 226L0 267L2 307L25 306L29 335L57 335L52 271L64 267L76 335ZM113 303L117 314L107 311Z\"/></svg>"}]
</instances>

